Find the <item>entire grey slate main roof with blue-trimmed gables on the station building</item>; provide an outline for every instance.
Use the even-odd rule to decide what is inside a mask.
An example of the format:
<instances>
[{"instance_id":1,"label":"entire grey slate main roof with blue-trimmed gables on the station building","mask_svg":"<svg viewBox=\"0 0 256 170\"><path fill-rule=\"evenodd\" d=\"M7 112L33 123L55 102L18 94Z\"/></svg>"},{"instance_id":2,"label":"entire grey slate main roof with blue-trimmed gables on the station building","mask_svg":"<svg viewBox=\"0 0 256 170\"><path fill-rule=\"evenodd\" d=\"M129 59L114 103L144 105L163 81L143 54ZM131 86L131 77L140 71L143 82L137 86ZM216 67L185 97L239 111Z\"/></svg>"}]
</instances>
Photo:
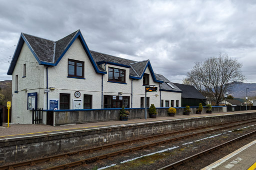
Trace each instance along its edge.
<instances>
[{"instance_id":1,"label":"entire grey slate main roof with blue-trimmed gables on the station building","mask_svg":"<svg viewBox=\"0 0 256 170\"><path fill-rule=\"evenodd\" d=\"M19 41L12 57L7 75L12 75L14 67L16 65L19 53L21 51L22 45L25 42L38 64L48 65L48 66L56 66L61 58L64 56L66 51L72 45L74 40L78 38L81 42L81 45L87 54L94 70L96 73L106 74L104 68L100 67L100 64L113 64L121 67L126 67L130 69L129 77L132 79L141 79L144 75L146 68L149 68L149 71L152 75L152 79L154 82L162 83L161 80L157 80L155 78L153 69L149 60L145 61L133 61L120 57L115 57L103 53L99 53L96 51L90 51L80 30L77 30L64 38L61 38L57 41L52 41L40 37L36 37L33 35L21 33L19 37Z\"/></svg>"}]
</instances>

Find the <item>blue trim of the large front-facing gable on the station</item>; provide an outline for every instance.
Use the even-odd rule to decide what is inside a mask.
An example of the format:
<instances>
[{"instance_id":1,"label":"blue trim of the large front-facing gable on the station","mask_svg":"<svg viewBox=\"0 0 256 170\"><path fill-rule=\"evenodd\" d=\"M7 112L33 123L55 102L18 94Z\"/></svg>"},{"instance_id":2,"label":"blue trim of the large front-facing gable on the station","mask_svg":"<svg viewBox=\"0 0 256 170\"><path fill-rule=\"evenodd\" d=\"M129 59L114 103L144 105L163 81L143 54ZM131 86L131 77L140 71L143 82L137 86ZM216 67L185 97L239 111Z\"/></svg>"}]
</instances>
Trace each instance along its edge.
<instances>
[{"instance_id":1,"label":"blue trim of the large front-facing gable on the station","mask_svg":"<svg viewBox=\"0 0 256 170\"><path fill-rule=\"evenodd\" d=\"M83 37L82 37L82 34L81 34L80 30L78 30L78 32L75 34L75 36L74 36L73 39L70 41L70 43L68 44L68 46L66 47L66 49L64 50L64 52L60 55L60 57L58 58L58 60L57 60L56 63L54 64L54 66L56 66L56 65L58 64L58 62L61 60L61 58L64 56L64 54L65 54L66 51L69 49L69 47L73 44L73 42L74 42L74 40L75 40L76 38L79 38L79 40L80 40L80 42L81 42L81 44L82 44L82 47L83 47L85 53L87 54L87 56L89 57L89 60L90 60L90 62L91 62L91 64L92 64L92 66L93 66L95 72L96 72L96 73L101 73L101 74L106 74L105 71L100 71L100 70L98 70L98 68L97 68L97 66L96 66L96 63L95 63L95 61L93 60L93 58L92 58L92 56L91 56L91 54L90 54L89 48L88 48L88 46L87 46L85 40L84 40Z\"/></svg>"}]
</instances>

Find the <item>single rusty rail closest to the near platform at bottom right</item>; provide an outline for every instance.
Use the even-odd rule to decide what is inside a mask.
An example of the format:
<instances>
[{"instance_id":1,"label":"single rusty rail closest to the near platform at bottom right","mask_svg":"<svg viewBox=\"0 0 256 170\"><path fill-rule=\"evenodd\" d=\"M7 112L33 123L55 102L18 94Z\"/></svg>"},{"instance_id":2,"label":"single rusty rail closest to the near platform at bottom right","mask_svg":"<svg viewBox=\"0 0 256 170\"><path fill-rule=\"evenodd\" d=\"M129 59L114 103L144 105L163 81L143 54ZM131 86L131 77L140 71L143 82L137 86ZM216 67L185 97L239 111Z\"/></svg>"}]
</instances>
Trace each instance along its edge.
<instances>
[{"instance_id":1,"label":"single rusty rail closest to the near platform at bottom right","mask_svg":"<svg viewBox=\"0 0 256 170\"><path fill-rule=\"evenodd\" d=\"M200 156L202 156L202 155L205 155L205 154L210 153L210 152L212 152L212 151L214 151L214 150L217 150L217 149L223 147L224 145L230 144L230 143L232 143L232 142L234 142L234 141L241 140L241 139L243 139L243 138L245 138L245 137L248 137L248 136L250 136L250 135L252 135L252 134L254 134L254 133L256 133L256 131L253 131L253 132L250 132L250 133L248 133L248 134L242 135L242 136L240 136L240 137L237 137L237 138L235 138L235 139L232 139L232 140L230 140L230 141L227 141L227 142L225 142L225 143L223 143L223 144L220 144L220 145L215 146L215 147L212 147L212 148L210 148L210 149L208 149L208 150L202 151L202 152L200 152L200 153L198 153L198 154L194 154L194 155L192 155L192 156L190 156L190 157L187 157L187 158L185 158L185 159L183 159L183 160L180 160L180 161L177 161L177 162L172 163L172 164L170 164L170 165L167 165L167 166L165 166L165 167L163 167L163 168L160 168L160 169L158 169L158 170L172 170L172 169L175 169L175 167L177 167L177 166L179 166L179 165L183 165L184 163L186 163L186 162L188 162L188 161L190 161L190 160L192 160L192 159L200 158Z\"/></svg>"}]
</instances>

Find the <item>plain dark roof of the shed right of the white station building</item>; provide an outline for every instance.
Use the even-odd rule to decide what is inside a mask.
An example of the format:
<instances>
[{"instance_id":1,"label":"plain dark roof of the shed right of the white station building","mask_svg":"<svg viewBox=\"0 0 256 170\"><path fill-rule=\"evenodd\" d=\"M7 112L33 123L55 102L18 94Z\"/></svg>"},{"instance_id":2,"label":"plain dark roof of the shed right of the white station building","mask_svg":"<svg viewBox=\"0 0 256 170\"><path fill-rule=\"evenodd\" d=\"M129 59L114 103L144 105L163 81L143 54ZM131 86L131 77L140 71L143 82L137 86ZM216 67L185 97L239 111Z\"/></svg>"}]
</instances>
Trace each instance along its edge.
<instances>
[{"instance_id":1,"label":"plain dark roof of the shed right of the white station building","mask_svg":"<svg viewBox=\"0 0 256 170\"><path fill-rule=\"evenodd\" d=\"M189 98L189 99L206 99L194 86L185 85L185 84L178 84L173 83L177 86L183 93L181 93L182 98Z\"/></svg>"}]
</instances>

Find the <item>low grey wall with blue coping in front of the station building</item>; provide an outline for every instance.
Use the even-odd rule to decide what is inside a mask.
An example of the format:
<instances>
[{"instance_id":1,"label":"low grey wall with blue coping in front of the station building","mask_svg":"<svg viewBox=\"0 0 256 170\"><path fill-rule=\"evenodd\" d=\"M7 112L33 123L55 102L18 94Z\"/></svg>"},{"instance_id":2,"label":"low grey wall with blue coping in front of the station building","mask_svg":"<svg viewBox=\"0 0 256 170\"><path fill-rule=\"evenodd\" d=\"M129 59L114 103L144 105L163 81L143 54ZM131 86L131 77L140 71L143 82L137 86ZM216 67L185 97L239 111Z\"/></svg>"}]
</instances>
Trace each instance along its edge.
<instances>
[{"instance_id":1,"label":"low grey wall with blue coping in front of the station building","mask_svg":"<svg viewBox=\"0 0 256 170\"><path fill-rule=\"evenodd\" d=\"M183 115L185 107L176 108L177 115ZM224 112L225 107L212 106L212 113ZM198 107L190 107L190 114L195 114ZM89 110L68 110L68 111L54 111L54 126L65 124L78 124L89 122L101 122L101 121L115 121L119 120L120 109L89 109ZM144 108L127 108L130 112L128 119L144 119ZM156 108L157 117L167 116L168 108ZM206 107L203 107L202 113L206 112ZM149 118L147 109L147 118Z\"/></svg>"}]
</instances>

